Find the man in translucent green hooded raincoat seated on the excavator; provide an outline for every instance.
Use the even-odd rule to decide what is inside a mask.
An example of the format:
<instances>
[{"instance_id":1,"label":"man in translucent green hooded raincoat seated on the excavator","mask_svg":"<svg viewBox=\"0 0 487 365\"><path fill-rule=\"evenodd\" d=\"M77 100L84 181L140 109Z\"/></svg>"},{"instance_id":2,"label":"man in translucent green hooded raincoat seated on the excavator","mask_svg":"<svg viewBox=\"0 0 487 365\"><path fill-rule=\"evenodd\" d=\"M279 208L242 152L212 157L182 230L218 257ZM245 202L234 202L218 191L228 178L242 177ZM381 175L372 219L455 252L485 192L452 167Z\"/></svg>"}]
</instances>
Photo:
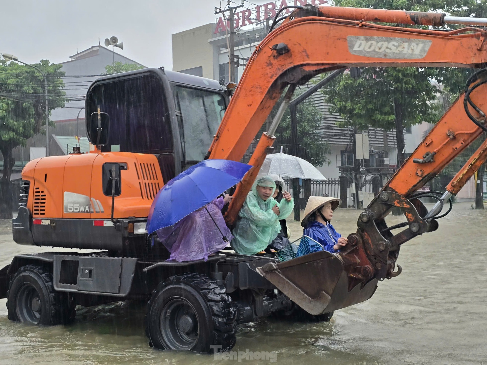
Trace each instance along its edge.
<instances>
[{"instance_id":1,"label":"man in translucent green hooded raincoat seated on the excavator","mask_svg":"<svg viewBox=\"0 0 487 365\"><path fill-rule=\"evenodd\" d=\"M264 250L281 231L279 219L293 211L294 201L283 192L281 201L272 198L276 183L269 176L257 180L248 193L233 230L232 248L239 254L254 255Z\"/></svg>"}]
</instances>

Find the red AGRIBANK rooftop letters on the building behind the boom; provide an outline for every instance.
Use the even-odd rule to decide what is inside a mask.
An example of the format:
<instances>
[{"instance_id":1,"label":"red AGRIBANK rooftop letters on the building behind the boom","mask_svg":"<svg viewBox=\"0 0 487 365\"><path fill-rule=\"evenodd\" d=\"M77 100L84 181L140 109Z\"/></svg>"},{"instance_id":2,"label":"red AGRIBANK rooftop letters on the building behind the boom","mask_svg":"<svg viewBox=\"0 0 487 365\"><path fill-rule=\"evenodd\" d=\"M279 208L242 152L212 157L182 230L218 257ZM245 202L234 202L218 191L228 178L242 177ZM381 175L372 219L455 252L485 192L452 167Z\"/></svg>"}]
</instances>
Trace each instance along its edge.
<instances>
[{"instance_id":1,"label":"red AGRIBANK rooftop letters on the building behind the boom","mask_svg":"<svg viewBox=\"0 0 487 365\"><path fill-rule=\"evenodd\" d=\"M252 9L245 9L240 12L235 13L235 28L243 27L244 25L254 24L255 22L259 22L265 20L267 18L274 18L276 13L279 9L282 9L284 6L294 5L294 6L303 6L306 4L312 4L315 6L324 5L328 2L328 0L281 0L275 2L268 2L263 5L257 5ZM282 12L284 15L291 14L292 11L295 9L286 9ZM225 25L227 30L230 29L230 22L220 17L218 22L216 23L216 29L213 32L214 34L225 32Z\"/></svg>"}]
</instances>

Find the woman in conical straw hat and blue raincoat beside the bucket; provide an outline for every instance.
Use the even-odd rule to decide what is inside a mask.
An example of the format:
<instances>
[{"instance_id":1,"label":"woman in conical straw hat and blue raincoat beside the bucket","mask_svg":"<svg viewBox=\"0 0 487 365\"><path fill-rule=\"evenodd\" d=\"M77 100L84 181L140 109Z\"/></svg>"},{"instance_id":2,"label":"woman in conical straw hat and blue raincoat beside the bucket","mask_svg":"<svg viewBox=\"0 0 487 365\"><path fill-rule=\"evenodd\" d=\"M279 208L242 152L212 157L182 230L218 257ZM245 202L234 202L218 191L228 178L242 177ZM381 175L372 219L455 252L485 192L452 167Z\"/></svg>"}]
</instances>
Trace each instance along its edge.
<instances>
[{"instance_id":1,"label":"woman in conical straw hat and blue raincoat beside the bucket","mask_svg":"<svg viewBox=\"0 0 487 365\"><path fill-rule=\"evenodd\" d=\"M309 197L304 210L304 219L301 221L301 226L304 227L303 235L313 238L323 245L326 251L332 253L338 252L348 243L347 238L341 237L330 223L333 211L338 208L340 202L338 198ZM315 246L310 245L306 253L321 251L318 245Z\"/></svg>"}]
</instances>

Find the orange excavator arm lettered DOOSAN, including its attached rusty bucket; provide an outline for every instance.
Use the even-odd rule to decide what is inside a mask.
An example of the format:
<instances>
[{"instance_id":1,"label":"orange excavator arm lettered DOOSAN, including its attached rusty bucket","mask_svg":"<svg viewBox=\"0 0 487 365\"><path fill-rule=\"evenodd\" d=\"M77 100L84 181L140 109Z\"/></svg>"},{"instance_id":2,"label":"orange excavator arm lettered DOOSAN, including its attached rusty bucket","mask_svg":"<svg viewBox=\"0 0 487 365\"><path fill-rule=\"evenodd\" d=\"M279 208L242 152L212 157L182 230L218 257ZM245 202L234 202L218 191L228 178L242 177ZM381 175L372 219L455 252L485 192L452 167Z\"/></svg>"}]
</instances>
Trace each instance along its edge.
<instances>
[{"instance_id":1,"label":"orange excavator arm lettered DOOSAN, including its attached rusty bucket","mask_svg":"<svg viewBox=\"0 0 487 365\"><path fill-rule=\"evenodd\" d=\"M250 58L209 149L209 158L240 161L288 85L344 67L467 67L487 62L486 32L465 27L452 31L378 25L390 22L441 26L447 22L487 24L487 19L447 17L439 13L304 6L263 39ZM338 254L319 252L258 271L303 309L320 314L367 300L376 284L400 273L395 261L400 245L434 231L439 211L487 158L484 143L437 197L428 212L416 191L438 174L485 127L486 72L469 80L468 90L450 107L424 141L397 170L358 219L357 232ZM289 94L288 90L288 94ZM287 98L290 96L286 95ZM275 130L275 129L274 129ZM262 165L273 131L264 133L250 164L254 167L237 188L227 213L232 224ZM387 227L385 217L400 208L406 222ZM393 235L395 228L408 227ZM309 277L320 280L310 281Z\"/></svg>"}]
</instances>

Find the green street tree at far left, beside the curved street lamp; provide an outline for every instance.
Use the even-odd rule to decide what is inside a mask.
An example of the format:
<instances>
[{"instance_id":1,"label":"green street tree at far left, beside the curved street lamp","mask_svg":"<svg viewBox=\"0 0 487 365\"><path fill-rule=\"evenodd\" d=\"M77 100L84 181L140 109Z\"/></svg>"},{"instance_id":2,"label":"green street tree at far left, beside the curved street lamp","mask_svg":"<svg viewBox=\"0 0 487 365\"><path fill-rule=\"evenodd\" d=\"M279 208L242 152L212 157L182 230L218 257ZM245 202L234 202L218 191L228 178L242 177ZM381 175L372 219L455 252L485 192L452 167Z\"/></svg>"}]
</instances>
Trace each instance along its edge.
<instances>
[{"instance_id":1,"label":"green street tree at far left, beside the curved street lamp","mask_svg":"<svg viewBox=\"0 0 487 365\"><path fill-rule=\"evenodd\" d=\"M41 60L35 66L46 73L49 113L64 107L62 66L50 64L49 60ZM16 62L0 61L0 78L0 152L3 156L0 214L11 218L10 175L15 163L12 150L25 146L37 133L45 133L42 128L46 121L45 89L44 77L37 70Z\"/></svg>"}]
</instances>

